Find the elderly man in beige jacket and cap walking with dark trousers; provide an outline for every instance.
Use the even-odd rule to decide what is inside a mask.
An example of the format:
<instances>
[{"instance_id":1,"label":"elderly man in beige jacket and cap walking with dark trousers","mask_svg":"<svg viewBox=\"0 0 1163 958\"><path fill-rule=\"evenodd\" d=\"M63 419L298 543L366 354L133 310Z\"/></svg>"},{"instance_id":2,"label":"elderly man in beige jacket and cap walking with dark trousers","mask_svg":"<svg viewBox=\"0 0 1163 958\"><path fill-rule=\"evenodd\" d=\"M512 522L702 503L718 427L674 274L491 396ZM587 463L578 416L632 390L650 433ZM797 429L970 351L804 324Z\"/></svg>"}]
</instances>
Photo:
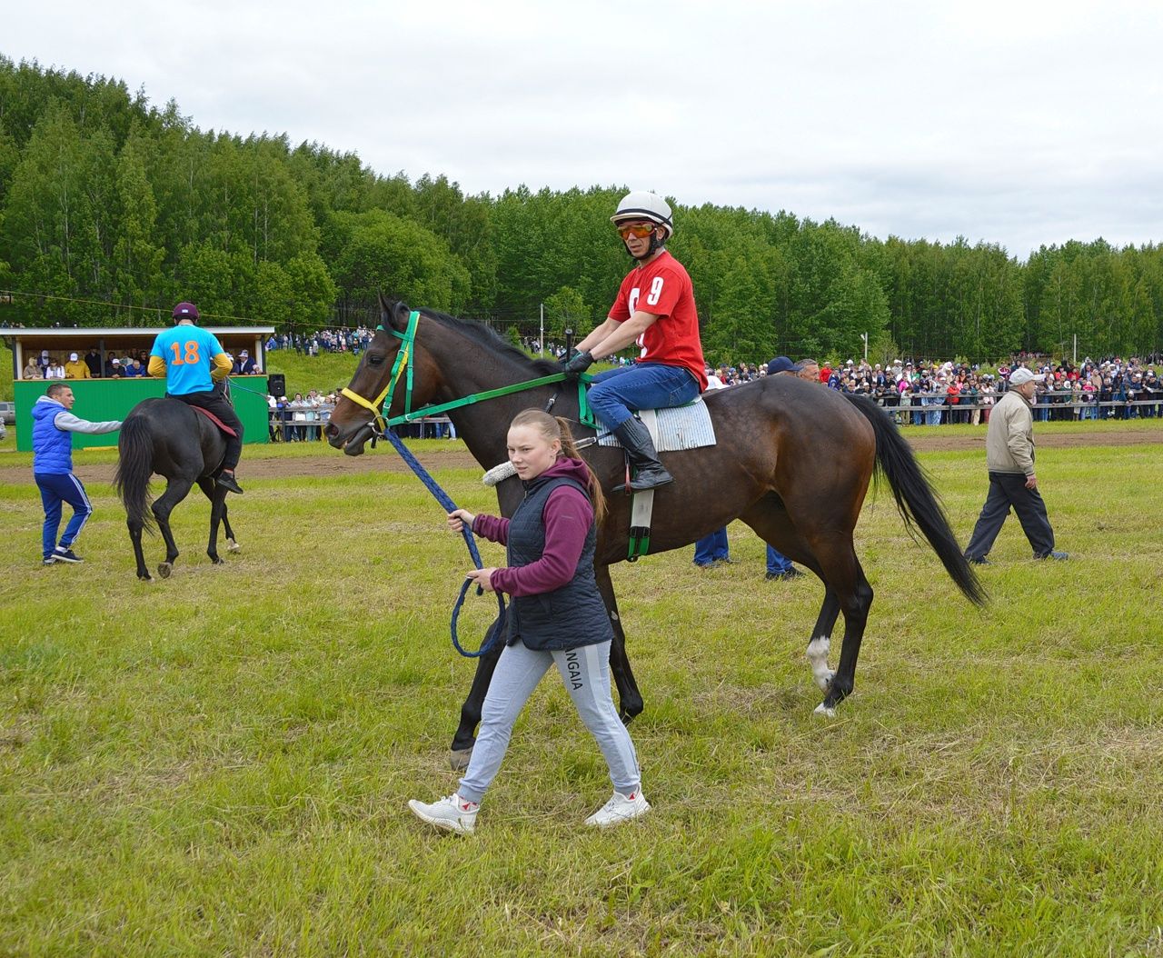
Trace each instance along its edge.
<instances>
[{"instance_id":1,"label":"elderly man in beige jacket and cap walking with dark trousers","mask_svg":"<svg viewBox=\"0 0 1163 958\"><path fill-rule=\"evenodd\" d=\"M1009 374L1009 389L998 400L985 433L985 464L990 470L990 494L965 547L965 558L978 566L993 547L1013 506L1035 559L1068 559L1054 548L1054 530L1034 474L1034 392L1046 377L1018 367Z\"/></svg>"}]
</instances>

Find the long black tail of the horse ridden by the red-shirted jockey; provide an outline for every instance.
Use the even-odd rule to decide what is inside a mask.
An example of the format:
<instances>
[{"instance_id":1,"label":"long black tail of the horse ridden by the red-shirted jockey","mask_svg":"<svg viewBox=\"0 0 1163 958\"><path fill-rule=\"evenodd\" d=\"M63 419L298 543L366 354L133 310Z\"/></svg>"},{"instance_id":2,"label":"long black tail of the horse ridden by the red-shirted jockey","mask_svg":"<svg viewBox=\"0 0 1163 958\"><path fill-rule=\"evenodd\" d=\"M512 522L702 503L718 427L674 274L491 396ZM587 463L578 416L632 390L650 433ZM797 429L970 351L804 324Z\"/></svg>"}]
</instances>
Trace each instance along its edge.
<instances>
[{"instance_id":1,"label":"long black tail of the horse ridden by the red-shirted jockey","mask_svg":"<svg viewBox=\"0 0 1163 958\"><path fill-rule=\"evenodd\" d=\"M965 598L975 605L985 605L989 596L957 545L941 501L897 424L870 399L851 393L844 393L844 397L872 425L872 432L876 433L877 468L892 487L897 509L909 534L920 530Z\"/></svg>"}]
</instances>

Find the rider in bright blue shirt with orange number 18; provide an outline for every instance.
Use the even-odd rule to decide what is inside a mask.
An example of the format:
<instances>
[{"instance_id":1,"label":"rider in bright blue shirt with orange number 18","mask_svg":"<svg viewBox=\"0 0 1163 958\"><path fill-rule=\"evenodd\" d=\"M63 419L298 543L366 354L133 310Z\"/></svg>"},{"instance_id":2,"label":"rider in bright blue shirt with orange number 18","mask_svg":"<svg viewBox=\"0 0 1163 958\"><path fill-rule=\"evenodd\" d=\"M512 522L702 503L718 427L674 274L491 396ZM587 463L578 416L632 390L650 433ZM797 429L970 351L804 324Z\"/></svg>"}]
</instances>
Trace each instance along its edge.
<instances>
[{"instance_id":1,"label":"rider in bright blue shirt with orange number 18","mask_svg":"<svg viewBox=\"0 0 1163 958\"><path fill-rule=\"evenodd\" d=\"M198 318L193 303L179 303L173 307L173 328L158 333L150 349L149 375L165 377L166 396L213 412L237 433L226 437L222 469L215 481L231 492L242 492L234 478L242 455L242 420L217 389L217 384L230 375L230 357L217 336L194 325Z\"/></svg>"}]
</instances>

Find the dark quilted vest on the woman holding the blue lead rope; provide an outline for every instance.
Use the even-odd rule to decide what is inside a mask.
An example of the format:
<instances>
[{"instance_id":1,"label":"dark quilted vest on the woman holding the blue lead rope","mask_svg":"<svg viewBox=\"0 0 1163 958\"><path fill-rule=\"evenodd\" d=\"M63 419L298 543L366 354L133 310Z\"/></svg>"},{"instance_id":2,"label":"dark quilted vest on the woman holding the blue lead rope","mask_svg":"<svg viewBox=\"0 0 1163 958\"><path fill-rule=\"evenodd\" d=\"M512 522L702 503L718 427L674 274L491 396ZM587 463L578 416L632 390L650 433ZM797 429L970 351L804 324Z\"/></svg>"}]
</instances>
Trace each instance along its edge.
<instances>
[{"instance_id":1,"label":"dark quilted vest on the woman holding the blue lead rope","mask_svg":"<svg viewBox=\"0 0 1163 958\"><path fill-rule=\"evenodd\" d=\"M529 483L525 499L509 519L509 567L528 566L541 558L545 548L545 526L541 516L549 494L559 485L572 485L588 496L580 483L563 476ZM531 596L513 596L508 608L508 645L521 639L526 648L561 651L614 638L606 605L593 577L597 539L598 533L591 523L573 579L562 588Z\"/></svg>"}]
</instances>

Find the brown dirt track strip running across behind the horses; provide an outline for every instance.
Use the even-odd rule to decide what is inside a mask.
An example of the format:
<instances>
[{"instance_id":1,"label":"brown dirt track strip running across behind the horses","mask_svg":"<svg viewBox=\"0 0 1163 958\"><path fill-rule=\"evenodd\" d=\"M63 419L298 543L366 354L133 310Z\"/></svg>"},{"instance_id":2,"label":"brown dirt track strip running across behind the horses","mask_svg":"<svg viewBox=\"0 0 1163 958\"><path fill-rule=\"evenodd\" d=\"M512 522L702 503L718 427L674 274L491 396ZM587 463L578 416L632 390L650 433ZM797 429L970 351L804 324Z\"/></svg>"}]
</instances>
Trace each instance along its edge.
<instances>
[{"instance_id":1,"label":"brown dirt track strip running across behind the horses","mask_svg":"<svg viewBox=\"0 0 1163 958\"><path fill-rule=\"evenodd\" d=\"M905 431L905 437L916 452L957 452L979 450L985 454L985 430L973 437L927 435L915 431ZM1046 433L1037 435L1037 446L1042 449L1064 448L1071 446L1143 446L1163 443L1163 421L1157 430L1128 432L1092 432L1079 428L1077 432ZM342 453L320 448L319 455L283 459L265 457L265 447L250 447L243 456L240 475L254 478L301 478L309 476L337 476L352 473L402 473L408 467L392 449L384 445L378 449L369 448L362 456L347 456ZM476 460L463 447L447 452L423 452L418 455L429 469L479 469ZM86 463L84 454L73 459L77 475L83 482L112 482L115 463L109 461ZM28 466L6 464L0 459L0 482L30 483L31 471Z\"/></svg>"}]
</instances>

